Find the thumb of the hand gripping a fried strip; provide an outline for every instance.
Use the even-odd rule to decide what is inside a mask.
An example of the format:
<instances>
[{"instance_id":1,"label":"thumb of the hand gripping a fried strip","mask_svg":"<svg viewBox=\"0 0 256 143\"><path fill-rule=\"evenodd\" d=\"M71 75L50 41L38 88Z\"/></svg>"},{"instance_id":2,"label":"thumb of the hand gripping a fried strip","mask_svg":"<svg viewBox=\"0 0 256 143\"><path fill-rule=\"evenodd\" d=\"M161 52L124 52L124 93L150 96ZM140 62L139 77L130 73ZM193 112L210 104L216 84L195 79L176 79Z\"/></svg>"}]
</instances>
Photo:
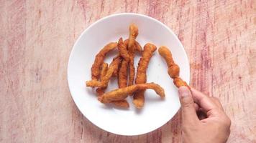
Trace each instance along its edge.
<instances>
[{"instance_id":1,"label":"thumb of the hand gripping a fried strip","mask_svg":"<svg viewBox=\"0 0 256 143\"><path fill-rule=\"evenodd\" d=\"M195 124L199 121L194 107L193 97L188 87L178 89L183 124Z\"/></svg>"}]
</instances>

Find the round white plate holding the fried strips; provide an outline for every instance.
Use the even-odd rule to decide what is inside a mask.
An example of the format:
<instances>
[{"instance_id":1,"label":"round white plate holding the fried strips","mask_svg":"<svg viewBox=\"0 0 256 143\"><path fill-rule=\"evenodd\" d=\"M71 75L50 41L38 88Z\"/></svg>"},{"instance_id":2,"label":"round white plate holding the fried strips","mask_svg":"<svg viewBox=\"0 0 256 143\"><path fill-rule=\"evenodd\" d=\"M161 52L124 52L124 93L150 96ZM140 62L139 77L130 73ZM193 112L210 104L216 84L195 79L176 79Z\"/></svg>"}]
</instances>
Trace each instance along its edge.
<instances>
[{"instance_id":1,"label":"round white plate holding the fried strips","mask_svg":"<svg viewBox=\"0 0 256 143\"><path fill-rule=\"evenodd\" d=\"M137 41L144 46L151 42L157 46L165 45L173 53L173 59L180 66L180 77L189 82L189 64L186 52L173 31L160 21L142 14L114 14L106 16L89 26L76 41L68 62L68 85L71 95L83 115L101 129L114 134L138 135L151 132L168 122L178 109L180 102L178 90L173 85L163 58L155 51L147 69L147 82L155 82L165 89L165 99L152 90L145 92L145 106L141 110L134 108L132 97L128 97L129 109L116 109L101 104L93 89L85 82L91 79L91 65L95 55L110 41L119 37L127 39L129 24L139 27ZM117 51L108 54L105 61L110 63ZM140 55L134 59L134 66ZM116 79L109 83L107 91L116 89Z\"/></svg>"}]
</instances>

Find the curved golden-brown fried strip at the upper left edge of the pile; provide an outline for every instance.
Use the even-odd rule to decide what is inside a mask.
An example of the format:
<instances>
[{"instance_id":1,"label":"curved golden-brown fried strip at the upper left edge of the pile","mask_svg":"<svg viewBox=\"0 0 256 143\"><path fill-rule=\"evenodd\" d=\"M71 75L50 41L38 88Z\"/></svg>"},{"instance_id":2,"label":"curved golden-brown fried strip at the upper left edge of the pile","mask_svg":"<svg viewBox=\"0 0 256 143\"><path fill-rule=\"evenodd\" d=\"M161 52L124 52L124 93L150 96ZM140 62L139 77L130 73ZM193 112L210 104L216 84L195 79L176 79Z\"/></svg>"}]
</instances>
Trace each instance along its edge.
<instances>
[{"instance_id":1,"label":"curved golden-brown fried strip at the upper left edge of the pile","mask_svg":"<svg viewBox=\"0 0 256 143\"><path fill-rule=\"evenodd\" d=\"M99 51L99 53L95 57L93 65L91 66L91 79L93 80L99 79L100 67L101 67L101 64L103 64L104 62L104 57L109 51L115 49L116 46L117 46L116 42L111 42L109 44L106 44L106 46L104 46L104 48L101 49L101 51Z\"/></svg>"}]
</instances>

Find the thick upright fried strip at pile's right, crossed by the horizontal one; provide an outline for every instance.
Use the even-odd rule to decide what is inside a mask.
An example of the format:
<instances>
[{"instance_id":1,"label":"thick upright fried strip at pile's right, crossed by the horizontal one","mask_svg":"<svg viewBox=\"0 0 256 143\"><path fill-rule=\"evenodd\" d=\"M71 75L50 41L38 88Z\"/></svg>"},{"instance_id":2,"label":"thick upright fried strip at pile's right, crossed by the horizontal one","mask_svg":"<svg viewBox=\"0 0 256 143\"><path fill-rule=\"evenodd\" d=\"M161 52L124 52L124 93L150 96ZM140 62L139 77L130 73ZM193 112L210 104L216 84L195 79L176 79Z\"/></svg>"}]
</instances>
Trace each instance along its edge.
<instances>
[{"instance_id":1,"label":"thick upright fried strip at pile's right, crossed by the horizontal one","mask_svg":"<svg viewBox=\"0 0 256 143\"><path fill-rule=\"evenodd\" d=\"M139 61L139 66L137 68L137 77L135 79L135 84L144 84L147 82L147 66L150 63L150 59L156 49L157 47L153 44L145 44L144 50L142 52L142 57ZM133 104L138 109L141 109L144 105L144 92L145 90L140 90L134 94Z\"/></svg>"}]
</instances>

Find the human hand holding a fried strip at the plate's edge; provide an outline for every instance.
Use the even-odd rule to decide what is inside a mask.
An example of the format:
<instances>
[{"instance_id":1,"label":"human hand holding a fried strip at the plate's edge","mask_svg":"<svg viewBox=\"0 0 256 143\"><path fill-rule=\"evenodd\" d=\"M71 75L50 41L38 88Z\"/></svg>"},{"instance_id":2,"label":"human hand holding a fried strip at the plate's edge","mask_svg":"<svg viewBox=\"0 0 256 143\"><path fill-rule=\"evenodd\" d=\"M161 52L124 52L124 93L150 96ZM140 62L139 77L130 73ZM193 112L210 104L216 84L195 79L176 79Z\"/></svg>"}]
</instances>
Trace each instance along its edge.
<instances>
[{"instance_id":1,"label":"human hand holding a fried strip at the plate's edge","mask_svg":"<svg viewBox=\"0 0 256 143\"><path fill-rule=\"evenodd\" d=\"M191 91L193 96L191 95ZM225 114L219 99L208 97L196 89L180 87L179 97L182 114L184 143L227 142L231 121ZM204 112L204 119L196 112Z\"/></svg>"}]
</instances>

